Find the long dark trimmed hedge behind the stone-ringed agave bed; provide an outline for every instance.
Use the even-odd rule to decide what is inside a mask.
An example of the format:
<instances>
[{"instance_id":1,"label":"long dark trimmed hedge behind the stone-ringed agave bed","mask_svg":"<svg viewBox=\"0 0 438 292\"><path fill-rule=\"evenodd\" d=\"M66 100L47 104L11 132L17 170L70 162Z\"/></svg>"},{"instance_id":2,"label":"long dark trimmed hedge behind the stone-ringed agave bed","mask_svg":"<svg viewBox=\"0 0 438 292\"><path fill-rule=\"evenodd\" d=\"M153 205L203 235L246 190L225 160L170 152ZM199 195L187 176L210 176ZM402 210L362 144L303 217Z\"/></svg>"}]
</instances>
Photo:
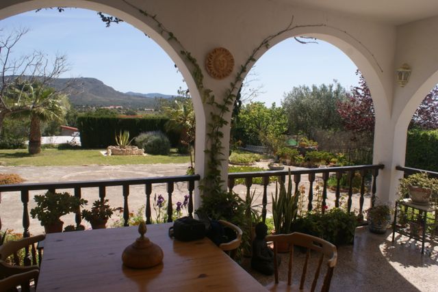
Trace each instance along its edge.
<instances>
[{"instance_id":1,"label":"long dark trimmed hedge behind the stone-ringed agave bed","mask_svg":"<svg viewBox=\"0 0 438 292\"><path fill-rule=\"evenodd\" d=\"M169 137L172 147L177 146L179 133L168 132L164 125L165 116L145 116L143 118L119 118L110 116L79 116L77 125L81 133L83 148L106 148L116 144L116 133L129 131L129 137L137 137L142 132L162 131Z\"/></svg>"}]
</instances>

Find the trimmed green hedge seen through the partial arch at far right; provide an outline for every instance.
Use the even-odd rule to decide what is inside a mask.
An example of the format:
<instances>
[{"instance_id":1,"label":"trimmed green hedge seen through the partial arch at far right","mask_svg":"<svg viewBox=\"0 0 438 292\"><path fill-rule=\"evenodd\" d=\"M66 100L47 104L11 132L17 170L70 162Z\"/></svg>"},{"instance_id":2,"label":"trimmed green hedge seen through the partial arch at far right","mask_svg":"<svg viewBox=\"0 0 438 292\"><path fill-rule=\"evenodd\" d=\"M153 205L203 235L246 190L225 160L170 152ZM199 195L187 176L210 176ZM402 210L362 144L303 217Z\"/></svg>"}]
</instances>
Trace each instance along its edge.
<instances>
[{"instance_id":1,"label":"trimmed green hedge seen through the partial arch at far right","mask_svg":"<svg viewBox=\"0 0 438 292\"><path fill-rule=\"evenodd\" d=\"M438 172L438 130L408 131L404 165Z\"/></svg>"}]
</instances>

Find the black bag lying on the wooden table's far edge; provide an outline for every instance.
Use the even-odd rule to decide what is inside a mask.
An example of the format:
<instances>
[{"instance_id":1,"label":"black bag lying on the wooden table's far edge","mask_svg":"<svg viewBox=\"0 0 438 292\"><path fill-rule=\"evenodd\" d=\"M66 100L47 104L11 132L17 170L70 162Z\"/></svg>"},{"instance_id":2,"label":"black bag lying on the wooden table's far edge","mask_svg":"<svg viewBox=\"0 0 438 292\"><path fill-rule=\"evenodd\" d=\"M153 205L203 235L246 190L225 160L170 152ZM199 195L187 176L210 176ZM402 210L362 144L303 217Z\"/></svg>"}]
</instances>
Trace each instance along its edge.
<instances>
[{"instance_id":1,"label":"black bag lying on the wooden table's far edge","mask_svg":"<svg viewBox=\"0 0 438 292\"><path fill-rule=\"evenodd\" d=\"M181 217L169 228L169 236L181 241L192 241L205 237L205 224L191 217Z\"/></svg>"}]
</instances>

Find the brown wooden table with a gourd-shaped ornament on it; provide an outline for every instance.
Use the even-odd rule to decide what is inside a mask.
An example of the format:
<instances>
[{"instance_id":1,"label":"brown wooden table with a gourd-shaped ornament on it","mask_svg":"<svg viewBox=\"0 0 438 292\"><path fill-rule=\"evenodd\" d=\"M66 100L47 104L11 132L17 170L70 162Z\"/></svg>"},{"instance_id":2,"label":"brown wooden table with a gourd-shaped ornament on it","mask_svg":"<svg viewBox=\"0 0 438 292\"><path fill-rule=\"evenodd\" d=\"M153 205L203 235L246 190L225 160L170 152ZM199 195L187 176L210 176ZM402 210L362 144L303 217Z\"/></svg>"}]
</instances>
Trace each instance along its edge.
<instances>
[{"instance_id":1,"label":"brown wooden table with a gourd-shaped ornament on it","mask_svg":"<svg viewBox=\"0 0 438 292\"><path fill-rule=\"evenodd\" d=\"M150 269L122 263L139 237L136 226L49 234L37 291L266 291L209 239L170 239L170 226L147 226L146 236L164 252L163 264Z\"/></svg>"}]
</instances>

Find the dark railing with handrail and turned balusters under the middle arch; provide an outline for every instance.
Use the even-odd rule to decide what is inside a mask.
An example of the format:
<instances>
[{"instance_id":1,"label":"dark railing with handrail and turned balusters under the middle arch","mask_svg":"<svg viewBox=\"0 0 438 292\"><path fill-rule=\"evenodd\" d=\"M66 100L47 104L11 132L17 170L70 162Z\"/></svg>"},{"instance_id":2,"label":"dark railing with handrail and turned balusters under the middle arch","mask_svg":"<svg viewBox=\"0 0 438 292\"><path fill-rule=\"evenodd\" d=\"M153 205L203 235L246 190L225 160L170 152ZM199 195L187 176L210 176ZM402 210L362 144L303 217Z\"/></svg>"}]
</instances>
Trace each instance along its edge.
<instances>
[{"instance_id":1,"label":"dark railing with handrail and turned balusters under the middle arch","mask_svg":"<svg viewBox=\"0 0 438 292\"><path fill-rule=\"evenodd\" d=\"M378 170L384 168L383 164L376 165L355 165L355 166L343 166L343 167L335 167L335 168L312 168L306 170L292 170L290 174L293 176L295 191L298 191L298 187L301 181L301 176L303 174L307 174L309 179L309 192L307 196L307 209L311 211L313 209L313 183L315 183L316 174L322 175L322 212L326 209L326 200L327 200L327 181L329 180L330 174L335 174L337 187L335 189L335 207L339 207L339 198L341 196L341 188L340 188L340 180L343 174L348 174L349 186L348 186L348 200L347 200L347 209L350 212L352 207L352 195L353 195L353 187L352 180L355 176L355 173L358 172L361 175L361 187L360 187L360 198L359 198L359 213L363 211L363 202L365 200L365 176L370 173L372 175L372 187L371 187L371 202L370 205L374 206L376 201L376 178L378 176ZM289 174L287 170L281 171L266 171L266 172L240 172L240 173L230 173L228 175L228 187L229 190L232 191L235 187L235 180L237 178L244 178L246 190L250 191L251 186L253 185L253 178L261 178L263 185L263 198L262 198L262 209L261 209L261 217L263 222L266 220L267 209L266 206L268 204L268 185L270 182L270 177L277 176L281 181L285 181L286 176Z\"/></svg>"}]
</instances>

